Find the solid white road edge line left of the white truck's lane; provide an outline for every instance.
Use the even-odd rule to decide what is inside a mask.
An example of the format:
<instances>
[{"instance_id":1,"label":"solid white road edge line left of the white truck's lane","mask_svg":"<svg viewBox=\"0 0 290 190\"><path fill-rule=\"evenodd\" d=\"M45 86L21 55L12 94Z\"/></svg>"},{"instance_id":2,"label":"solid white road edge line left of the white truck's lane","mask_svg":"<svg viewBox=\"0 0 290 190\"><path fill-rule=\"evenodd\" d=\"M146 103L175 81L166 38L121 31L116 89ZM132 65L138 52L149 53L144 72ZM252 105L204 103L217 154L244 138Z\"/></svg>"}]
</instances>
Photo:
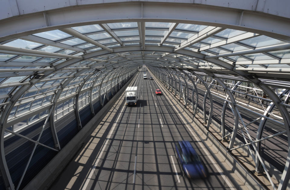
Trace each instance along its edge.
<instances>
[{"instance_id":1,"label":"solid white road edge line left of the white truck's lane","mask_svg":"<svg viewBox=\"0 0 290 190\"><path fill-rule=\"evenodd\" d=\"M121 110L121 112L119 113L117 120L115 121L115 123L114 123L112 129L110 130L110 132L109 132L109 134L108 134L108 136L107 136L107 140L106 140L105 144L103 145L103 148L102 148L101 152L99 152L99 155L98 155L98 157L97 157L97 160L95 161L95 163L94 163L94 165L93 165L93 167L92 167L92 170L91 170L91 172L90 172L90 174L89 174L87 180L85 181L84 186L82 187L82 190L85 190L85 189L87 188L87 186L88 186L88 184L89 184L89 181L90 181L90 179L92 178L92 175L94 174L95 169L96 169L96 167L97 167L97 165L98 165L98 163L99 163L99 161L100 161L100 159L101 159L101 156L102 156L102 154L103 154L104 151L105 151L105 148L106 148L106 146L107 146L107 144L108 144L108 141L109 141L109 139L110 139L110 137L111 137L111 135L112 135L112 133L113 133L113 131L114 131L116 125L117 125L117 122L118 122L120 116L123 115L122 112L123 112L123 109L124 109L124 108L125 108L125 106L122 107L122 110Z\"/></svg>"}]
</instances>

